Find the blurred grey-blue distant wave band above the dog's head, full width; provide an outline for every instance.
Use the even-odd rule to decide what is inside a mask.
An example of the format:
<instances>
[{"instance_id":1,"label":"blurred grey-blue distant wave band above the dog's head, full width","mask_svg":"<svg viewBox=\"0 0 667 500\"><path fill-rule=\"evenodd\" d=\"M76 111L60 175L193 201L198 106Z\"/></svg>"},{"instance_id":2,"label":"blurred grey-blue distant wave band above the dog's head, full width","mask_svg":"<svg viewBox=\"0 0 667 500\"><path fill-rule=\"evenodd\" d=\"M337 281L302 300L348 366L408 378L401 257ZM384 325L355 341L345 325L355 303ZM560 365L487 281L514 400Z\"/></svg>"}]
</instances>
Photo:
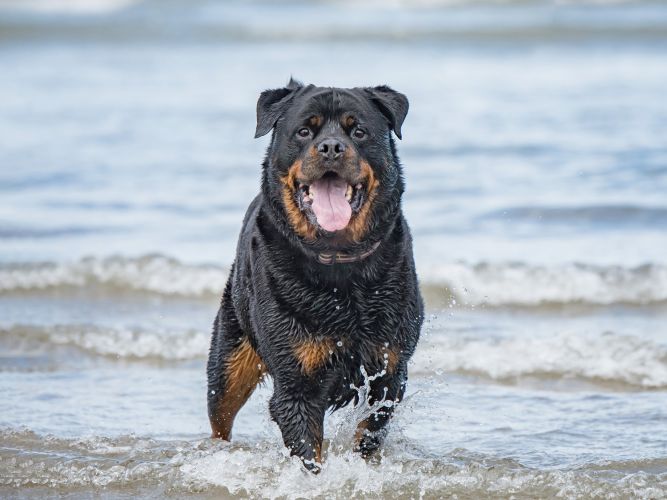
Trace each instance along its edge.
<instances>
[{"instance_id":1,"label":"blurred grey-blue distant wave band above the dog's head, full width","mask_svg":"<svg viewBox=\"0 0 667 500\"><path fill-rule=\"evenodd\" d=\"M267 17L271 14L267 14ZM309 20L309 19L306 19ZM20 23L1 23L0 39L15 41L97 41L107 43L137 43L178 41L186 43L296 43L310 41L312 43L331 43L336 41L385 42L385 43L538 43L569 42L572 38L581 41L609 40L616 41L662 41L667 38L667 30L663 26L652 24L639 26L577 26L549 25L538 26L470 26L470 27L434 27L417 24L414 26L396 27L385 25L364 25L361 29L354 26L280 26L263 24L261 26L241 25L210 25L193 26L188 31L188 38L183 40L182 31L167 25L144 24L126 21L126 24L95 23L95 29L85 24L71 22L69 25L39 23L22 20Z\"/></svg>"}]
</instances>

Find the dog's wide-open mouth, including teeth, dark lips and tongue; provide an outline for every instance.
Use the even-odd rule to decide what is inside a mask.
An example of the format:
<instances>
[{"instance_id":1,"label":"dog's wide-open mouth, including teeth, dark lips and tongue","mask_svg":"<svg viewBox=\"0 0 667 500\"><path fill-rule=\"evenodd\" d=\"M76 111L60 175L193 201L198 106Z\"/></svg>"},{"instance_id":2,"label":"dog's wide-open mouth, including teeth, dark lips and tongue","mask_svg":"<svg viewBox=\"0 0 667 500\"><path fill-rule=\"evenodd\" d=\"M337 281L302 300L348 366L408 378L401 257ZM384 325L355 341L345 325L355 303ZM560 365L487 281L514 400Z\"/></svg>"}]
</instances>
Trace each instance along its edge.
<instances>
[{"instance_id":1,"label":"dog's wide-open mouth, including teeth, dark lips and tongue","mask_svg":"<svg viewBox=\"0 0 667 500\"><path fill-rule=\"evenodd\" d=\"M311 222L329 232L339 231L348 225L352 214L363 205L366 194L362 183L348 184L331 171L310 184L300 182L298 188L299 209Z\"/></svg>"}]
</instances>

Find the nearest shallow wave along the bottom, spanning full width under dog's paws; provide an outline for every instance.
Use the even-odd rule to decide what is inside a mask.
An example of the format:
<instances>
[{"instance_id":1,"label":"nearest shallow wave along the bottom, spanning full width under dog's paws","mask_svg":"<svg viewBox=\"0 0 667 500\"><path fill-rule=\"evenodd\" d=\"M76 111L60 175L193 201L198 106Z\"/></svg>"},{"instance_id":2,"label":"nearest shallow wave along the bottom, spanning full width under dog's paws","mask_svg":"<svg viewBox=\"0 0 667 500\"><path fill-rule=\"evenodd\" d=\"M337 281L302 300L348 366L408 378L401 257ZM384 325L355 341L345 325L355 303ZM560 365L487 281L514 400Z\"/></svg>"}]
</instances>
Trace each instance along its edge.
<instances>
[{"instance_id":1,"label":"nearest shallow wave along the bottom, spanning full width under dog's paws","mask_svg":"<svg viewBox=\"0 0 667 500\"><path fill-rule=\"evenodd\" d=\"M313 476L277 440L253 446L132 436L65 439L11 429L0 431L0 439L0 491L22 488L26 494L57 488L61 494L90 490L109 497L120 492L253 498L667 495L665 459L539 470L463 449L433 457L398 439L387 442L381 462L329 448L322 472Z\"/></svg>"}]
</instances>

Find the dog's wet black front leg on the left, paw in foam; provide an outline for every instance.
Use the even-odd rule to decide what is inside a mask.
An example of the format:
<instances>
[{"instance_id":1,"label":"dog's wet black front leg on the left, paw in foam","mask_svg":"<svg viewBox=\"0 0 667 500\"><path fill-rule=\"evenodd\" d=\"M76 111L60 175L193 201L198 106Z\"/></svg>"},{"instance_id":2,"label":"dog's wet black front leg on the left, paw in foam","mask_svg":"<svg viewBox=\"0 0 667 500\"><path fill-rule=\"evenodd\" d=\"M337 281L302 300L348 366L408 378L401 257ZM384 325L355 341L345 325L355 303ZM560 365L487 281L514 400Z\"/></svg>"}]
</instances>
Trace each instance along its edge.
<instances>
[{"instance_id":1,"label":"dog's wet black front leg on the left, paw in foam","mask_svg":"<svg viewBox=\"0 0 667 500\"><path fill-rule=\"evenodd\" d=\"M302 375L277 375L269 403L271 417L283 434L285 446L318 473L322 464L322 437L326 396L314 380Z\"/></svg>"}]
</instances>

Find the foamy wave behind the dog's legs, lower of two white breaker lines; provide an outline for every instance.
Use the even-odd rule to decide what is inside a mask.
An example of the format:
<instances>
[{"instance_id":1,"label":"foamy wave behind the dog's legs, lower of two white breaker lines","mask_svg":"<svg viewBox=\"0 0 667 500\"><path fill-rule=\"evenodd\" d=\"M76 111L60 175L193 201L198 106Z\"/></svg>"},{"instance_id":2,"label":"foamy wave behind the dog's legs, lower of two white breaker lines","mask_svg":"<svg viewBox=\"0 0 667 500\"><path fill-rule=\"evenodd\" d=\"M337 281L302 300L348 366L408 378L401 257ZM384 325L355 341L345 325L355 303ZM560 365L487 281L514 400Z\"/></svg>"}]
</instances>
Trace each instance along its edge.
<instances>
[{"instance_id":1,"label":"foamy wave behind the dog's legs, lower of two white breaker lines","mask_svg":"<svg viewBox=\"0 0 667 500\"><path fill-rule=\"evenodd\" d=\"M94 325L28 326L0 329L0 343L66 346L88 355L124 361L187 361L206 358L210 333L157 331ZM30 368L28 366L27 368ZM417 376L460 373L503 383L530 378L585 381L621 390L667 388L667 346L605 332L549 337L461 337L446 331L425 336L410 367Z\"/></svg>"}]
</instances>

